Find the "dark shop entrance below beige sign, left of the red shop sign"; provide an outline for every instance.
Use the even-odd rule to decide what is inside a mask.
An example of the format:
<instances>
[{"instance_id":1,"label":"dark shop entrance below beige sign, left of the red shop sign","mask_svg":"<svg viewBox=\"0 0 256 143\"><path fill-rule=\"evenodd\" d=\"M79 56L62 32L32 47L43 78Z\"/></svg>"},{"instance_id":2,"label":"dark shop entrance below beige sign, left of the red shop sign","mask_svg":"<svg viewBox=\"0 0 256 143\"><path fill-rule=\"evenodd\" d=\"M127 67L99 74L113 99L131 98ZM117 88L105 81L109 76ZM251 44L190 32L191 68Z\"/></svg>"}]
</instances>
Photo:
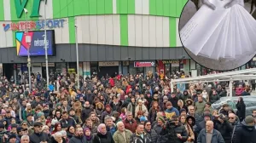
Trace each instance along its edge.
<instances>
[{"instance_id":1,"label":"dark shop entrance below beige sign, left of the red shop sign","mask_svg":"<svg viewBox=\"0 0 256 143\"><path fill-rule=\"evenodd\" d=\"M100 66L99 67L99 77L106 77L108 73L108 76L115 77L115 73L119 73L119 66Z\"/></svg>"}]
</instances>

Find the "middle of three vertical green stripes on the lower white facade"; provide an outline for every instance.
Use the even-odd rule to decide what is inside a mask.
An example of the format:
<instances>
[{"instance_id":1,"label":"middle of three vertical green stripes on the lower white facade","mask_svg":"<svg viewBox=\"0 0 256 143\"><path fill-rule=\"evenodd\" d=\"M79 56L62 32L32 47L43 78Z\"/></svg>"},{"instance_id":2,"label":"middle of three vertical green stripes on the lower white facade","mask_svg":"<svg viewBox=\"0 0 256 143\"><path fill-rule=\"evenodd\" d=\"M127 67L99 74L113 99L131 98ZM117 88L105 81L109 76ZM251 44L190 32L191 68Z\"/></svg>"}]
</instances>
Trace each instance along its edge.
<instances>
[{"instance_id":1,"label":"middle of three vertical green stripes on the lower white facade","mask_svg":"<svg viewBox=\"0 0 256 143\"><path fill-rule=\"evenodd\" d=\"M122 46L128 46L128 16L120 14L120 40Z\"/></svg>"}]
</instances>

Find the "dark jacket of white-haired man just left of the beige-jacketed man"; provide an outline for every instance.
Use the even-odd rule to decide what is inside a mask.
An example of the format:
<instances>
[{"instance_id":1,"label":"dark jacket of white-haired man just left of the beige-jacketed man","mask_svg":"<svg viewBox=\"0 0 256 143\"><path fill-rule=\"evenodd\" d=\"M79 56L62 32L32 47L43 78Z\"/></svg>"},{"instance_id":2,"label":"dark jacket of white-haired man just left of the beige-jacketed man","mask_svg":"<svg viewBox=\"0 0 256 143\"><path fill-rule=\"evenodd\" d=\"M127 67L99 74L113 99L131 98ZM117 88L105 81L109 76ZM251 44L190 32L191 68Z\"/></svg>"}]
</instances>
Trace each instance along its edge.
<instances>
[{"instance_id":1,"label":"dark jacket of white-haired man just left of the beige-jacketed man","mask_svg":"<svg viewBox=\"0 0 256 143\"><path fill-rule=\"evenodd\" d=\"M111 133L107 134L97 133L92 140L93 143L114 143Z\"/></svg>"}]
</instances>

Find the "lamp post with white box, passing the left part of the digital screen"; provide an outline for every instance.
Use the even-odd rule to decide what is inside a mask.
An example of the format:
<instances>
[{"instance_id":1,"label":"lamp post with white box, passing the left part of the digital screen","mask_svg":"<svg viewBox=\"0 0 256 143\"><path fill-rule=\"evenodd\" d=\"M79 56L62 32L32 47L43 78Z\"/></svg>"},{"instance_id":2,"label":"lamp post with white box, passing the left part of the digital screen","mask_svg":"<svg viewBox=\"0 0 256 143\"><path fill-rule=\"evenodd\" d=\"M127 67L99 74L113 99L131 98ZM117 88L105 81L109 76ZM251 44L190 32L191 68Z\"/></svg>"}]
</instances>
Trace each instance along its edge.
<instances>
[{"instance_id":1,"label":"lamp post with white box, passing the left part of the digital screen","mask_svg":"<svg viewBox=\"0 0 256 143\"><path fill-rule=\"evenodd\" d=\"M29 44L31 43L31 37L28 35L28 29L27 29L27 9L24 9L25 14L26 14L26 43ZM30 59L30 51L29 51L30 47L28 47L27 49L27 68L28 68L28 83L29 83L29 90L31 91L32 86L31 86L31 59Z\"/></svg>"}]
</instances>

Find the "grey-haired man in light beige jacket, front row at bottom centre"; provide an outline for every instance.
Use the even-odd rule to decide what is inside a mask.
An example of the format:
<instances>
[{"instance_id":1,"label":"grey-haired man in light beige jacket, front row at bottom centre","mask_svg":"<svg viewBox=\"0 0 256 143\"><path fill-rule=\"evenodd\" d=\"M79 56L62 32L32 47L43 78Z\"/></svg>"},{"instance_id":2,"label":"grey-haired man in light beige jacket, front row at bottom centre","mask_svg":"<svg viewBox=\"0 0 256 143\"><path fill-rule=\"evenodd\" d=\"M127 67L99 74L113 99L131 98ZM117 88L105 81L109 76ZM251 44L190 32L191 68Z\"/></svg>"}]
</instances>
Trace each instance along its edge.
<instances>
[{"instance_id":1,"label":"grey-haired man in light beige jacket, front row at bottom centre","mask_svg":"<svg viewBox=\"0 0 256 143\"><path fill-rule=\"evenodd\" d=\"M118 122L116 124L117 131L113 134L113 140L115 143L130 143L131 131L125 129L125 124L123 122Z\"/></svg>"}]
</instances>

